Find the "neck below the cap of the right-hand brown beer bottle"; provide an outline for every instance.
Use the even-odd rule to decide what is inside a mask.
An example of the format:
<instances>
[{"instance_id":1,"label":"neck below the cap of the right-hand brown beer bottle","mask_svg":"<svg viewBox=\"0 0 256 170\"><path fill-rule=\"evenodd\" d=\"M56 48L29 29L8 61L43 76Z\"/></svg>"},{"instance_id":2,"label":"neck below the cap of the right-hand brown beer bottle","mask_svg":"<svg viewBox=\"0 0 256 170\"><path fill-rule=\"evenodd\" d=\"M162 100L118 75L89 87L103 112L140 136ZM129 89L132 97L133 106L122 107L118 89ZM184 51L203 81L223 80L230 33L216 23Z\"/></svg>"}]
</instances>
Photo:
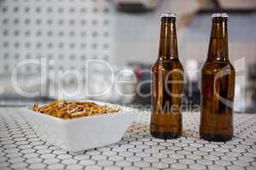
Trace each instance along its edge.
<instances>
[{"instance_id":1,"label":"neck below the cap of the right-hand brown beer bottle","mask_svg":"<svg viewBox=\"0 0 256 170\"><path fill-rule=\"evenodd\" d=\"M212 32L207 61L228 61L228 28L227 19L213 18Z\"/></svg>"}]
</instances>

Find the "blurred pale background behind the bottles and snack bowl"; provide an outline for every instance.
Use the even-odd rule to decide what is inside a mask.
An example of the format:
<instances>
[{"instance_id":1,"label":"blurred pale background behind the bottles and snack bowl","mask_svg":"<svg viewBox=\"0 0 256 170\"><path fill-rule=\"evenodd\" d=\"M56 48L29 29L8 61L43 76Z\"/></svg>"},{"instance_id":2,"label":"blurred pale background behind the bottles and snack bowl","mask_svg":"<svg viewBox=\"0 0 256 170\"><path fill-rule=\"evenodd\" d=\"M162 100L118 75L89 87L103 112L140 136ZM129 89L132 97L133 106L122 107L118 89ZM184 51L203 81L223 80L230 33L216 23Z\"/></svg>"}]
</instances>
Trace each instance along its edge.
<instances>
[{"instance_id":1,"label":"blurred pale background behind the bottles and snack bowl","mask_svg":"<svg viewBox=\"0 0 256 170\"><path fill-rule=\"evenodd\" d=\"M140 82L150 81L148 69L158 57L160 14L165 12L177 13L179 59L192 87L186 88L184 102L199 104L198 71L207 58L211 14L225 12L230 14L230 60L237 71L235 109L256 112L255 9L255 0L0 0L0 105L57 98L149 105L150 83ZM15 71L24 59L33 64ZM67 95L80 84L89 83L83 88L89 94L108 88L108 68L87 68L89 59L111 65L121 93ZM74 73L60 81L56 71ZM90 77L77 79L76 71ZM21 90L39 93L20 95L11 77L17 77Z\"/></svg>"}]
</instances>

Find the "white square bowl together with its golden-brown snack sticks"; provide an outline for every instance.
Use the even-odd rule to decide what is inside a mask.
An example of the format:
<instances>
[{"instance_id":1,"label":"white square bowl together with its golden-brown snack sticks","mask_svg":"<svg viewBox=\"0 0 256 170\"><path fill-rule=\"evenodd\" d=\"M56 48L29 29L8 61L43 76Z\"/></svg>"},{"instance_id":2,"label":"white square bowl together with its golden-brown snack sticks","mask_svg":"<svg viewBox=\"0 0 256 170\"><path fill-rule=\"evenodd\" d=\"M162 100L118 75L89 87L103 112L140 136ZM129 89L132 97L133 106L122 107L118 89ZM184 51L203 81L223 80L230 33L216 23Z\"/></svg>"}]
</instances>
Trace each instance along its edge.
<instances>
[{"instance_id":1,"label":"white square bowl together with its golden-brown snack sticks","mask_svg":"<svg viewBox=\"0 0 256 170\"><path fill-rule=\"evenodd\" d=\"M18 113L42 140L64 150L79 151L118 142L135 120L136 111L93 100L58 99L20 108Z\"/></svg>"}]
</instances>

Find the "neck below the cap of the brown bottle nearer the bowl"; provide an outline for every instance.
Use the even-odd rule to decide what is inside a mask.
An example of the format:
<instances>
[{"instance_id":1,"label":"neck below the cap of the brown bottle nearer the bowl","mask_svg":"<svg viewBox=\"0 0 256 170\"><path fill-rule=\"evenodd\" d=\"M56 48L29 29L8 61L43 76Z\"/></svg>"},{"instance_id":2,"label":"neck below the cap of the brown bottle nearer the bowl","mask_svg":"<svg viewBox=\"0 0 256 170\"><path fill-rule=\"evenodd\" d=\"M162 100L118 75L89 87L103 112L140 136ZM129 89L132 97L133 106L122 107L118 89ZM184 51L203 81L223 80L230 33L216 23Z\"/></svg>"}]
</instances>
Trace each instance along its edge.
<instances>
[{"instance_id":1,"label":"neck below the cap of the brown bottle nearer the bowl","mask_svg":"<svg viewBox=\"0 0 256 170\"><path fill-rule=\"evenodd\" d=\"M160 28L160 59L177 59L175 18L163 18Z\"/></svg>"}]
</instances>

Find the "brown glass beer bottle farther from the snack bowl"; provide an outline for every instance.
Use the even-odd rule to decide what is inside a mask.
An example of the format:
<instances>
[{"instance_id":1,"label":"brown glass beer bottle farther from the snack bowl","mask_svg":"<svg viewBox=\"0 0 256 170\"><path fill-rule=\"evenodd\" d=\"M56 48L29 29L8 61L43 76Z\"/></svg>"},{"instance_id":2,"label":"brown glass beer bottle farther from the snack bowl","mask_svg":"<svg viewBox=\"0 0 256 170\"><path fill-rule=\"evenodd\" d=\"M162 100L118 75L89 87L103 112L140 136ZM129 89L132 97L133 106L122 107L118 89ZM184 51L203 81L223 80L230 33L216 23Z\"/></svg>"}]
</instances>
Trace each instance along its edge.
<instances>
[{"instance_id":1,"label":"brown glass beer bottle farther from the snack bowl","mask_svg":"<svg viewBox=\"0 0 256 170\"><path fill-rule=\"evenodd\" d=\"M201 71L200 136L210 141L233 137L235 69L229 60L228 14L212 14L207 61Z\"/></svg>"}]
</instances>

